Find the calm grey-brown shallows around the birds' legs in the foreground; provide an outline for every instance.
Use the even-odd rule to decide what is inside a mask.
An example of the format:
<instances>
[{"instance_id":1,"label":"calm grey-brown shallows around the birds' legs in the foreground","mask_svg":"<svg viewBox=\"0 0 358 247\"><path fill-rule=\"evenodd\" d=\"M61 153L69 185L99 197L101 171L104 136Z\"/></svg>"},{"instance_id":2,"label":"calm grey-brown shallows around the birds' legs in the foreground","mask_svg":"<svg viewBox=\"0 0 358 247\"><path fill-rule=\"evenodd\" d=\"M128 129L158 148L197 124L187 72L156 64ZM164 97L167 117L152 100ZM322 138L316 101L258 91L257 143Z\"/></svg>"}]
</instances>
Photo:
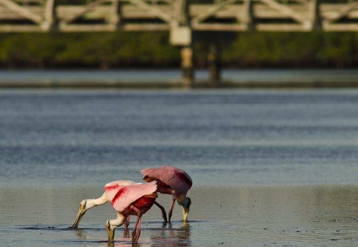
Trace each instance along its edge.
<instances>
[{"instance_id":1,"label":"calm grey-brown shallows around the birds' legs in the foreground","mask_svg":"<svg viewBox=\"0 0 358 247\"><path fill-rule=\"evenodd\" d=\"M107 204L90 209L80 229L73 222L83 198L102 187L6 187L0 189L1 246L107 246ZM163 225L155 206L143 217L140 246L357 246L357 186L194 187L189 222L174 207ZM158 202L169 207L170 197ZM136 217L131 218L132 228ZM131 246L123 227L115 246Z\"/></svg>"}]
</instances>

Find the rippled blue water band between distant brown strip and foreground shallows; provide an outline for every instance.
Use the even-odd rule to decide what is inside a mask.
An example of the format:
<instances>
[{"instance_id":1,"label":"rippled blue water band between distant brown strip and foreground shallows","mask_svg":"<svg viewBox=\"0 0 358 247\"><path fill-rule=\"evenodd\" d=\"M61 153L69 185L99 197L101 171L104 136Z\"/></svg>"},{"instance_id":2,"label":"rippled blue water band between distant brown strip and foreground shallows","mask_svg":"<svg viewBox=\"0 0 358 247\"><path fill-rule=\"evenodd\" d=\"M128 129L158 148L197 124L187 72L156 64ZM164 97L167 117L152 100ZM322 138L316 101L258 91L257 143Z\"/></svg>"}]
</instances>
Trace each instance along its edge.
<instances>
[{"instance_id":1,"label":"rippled blue water band between distant brown strip and foreground shallows","mask_svg":"<svg viewBox=\"0 0 358 247\"><path fill-rule=\"evenodd\" d=\"M358 184L357 151L358 90L0 92L0 185Z\"/></svg>"}]
</instances>

